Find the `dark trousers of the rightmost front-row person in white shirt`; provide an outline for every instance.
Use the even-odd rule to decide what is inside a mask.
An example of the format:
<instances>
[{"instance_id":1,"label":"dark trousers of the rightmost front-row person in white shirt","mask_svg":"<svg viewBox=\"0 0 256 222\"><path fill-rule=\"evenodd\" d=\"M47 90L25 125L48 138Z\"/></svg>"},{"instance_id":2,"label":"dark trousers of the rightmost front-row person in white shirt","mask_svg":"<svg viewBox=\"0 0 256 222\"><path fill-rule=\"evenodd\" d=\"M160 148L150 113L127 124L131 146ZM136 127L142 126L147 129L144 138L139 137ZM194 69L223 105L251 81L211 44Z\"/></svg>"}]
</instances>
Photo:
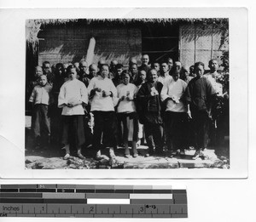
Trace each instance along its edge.
<instances>
[{"instance_id":1,"label":"dark trousers of the rightmost front-row person in white shirt","mask_svg":"<svg viewBox=\"0 0 256 222\"><path fill-rule=\"evenodd\" d=\"M177 151L188 144L186 112L166 111L166 144L169 149Z\"/></svg>"}]
</instances>

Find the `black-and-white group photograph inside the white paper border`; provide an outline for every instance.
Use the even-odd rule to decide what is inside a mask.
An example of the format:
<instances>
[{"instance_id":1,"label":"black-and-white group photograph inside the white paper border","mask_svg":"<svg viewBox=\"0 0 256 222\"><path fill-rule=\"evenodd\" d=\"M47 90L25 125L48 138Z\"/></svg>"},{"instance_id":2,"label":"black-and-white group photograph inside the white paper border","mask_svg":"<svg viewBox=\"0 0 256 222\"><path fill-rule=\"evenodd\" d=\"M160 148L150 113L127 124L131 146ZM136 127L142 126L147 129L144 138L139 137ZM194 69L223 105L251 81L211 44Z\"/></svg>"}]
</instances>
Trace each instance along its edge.
<instances>
[{"instance_id":1,"label":"black-and-white group photograph inside the white paper border","mask_svg":"<svg viewBox=\"0 0 256 222\"><path fill-rule=\"evenodd\" d=\"M230 168L229 19L26 20L26 168Z\"/></svg>"}]
</instances>

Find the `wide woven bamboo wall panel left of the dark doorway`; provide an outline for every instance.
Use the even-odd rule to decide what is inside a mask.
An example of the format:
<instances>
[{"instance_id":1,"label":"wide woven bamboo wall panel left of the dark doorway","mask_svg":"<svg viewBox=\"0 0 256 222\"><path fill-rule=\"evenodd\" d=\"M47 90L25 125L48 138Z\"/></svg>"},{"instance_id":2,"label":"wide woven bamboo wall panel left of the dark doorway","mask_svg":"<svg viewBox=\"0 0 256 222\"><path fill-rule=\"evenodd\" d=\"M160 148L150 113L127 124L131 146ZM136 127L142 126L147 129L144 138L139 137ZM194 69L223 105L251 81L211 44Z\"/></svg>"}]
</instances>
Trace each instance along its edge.
<instances>
[{"instance_id":1,"label":"wide woven bamboo wall panel left of the dark doorway","mask_svg":"<svg viewBox=\"0 0 256 222\"><path fill-rule=\"evenodd\" d=\"M44 60L51 64L76 62L86 58L90 37L95 37L95 57L98 60L116 59L128 64L131 57L140 58L142 34L139 28L91 27L91 26L52 26L39 33L44 39L39 43L38 63Z\"/></svg>"}]
</instances>

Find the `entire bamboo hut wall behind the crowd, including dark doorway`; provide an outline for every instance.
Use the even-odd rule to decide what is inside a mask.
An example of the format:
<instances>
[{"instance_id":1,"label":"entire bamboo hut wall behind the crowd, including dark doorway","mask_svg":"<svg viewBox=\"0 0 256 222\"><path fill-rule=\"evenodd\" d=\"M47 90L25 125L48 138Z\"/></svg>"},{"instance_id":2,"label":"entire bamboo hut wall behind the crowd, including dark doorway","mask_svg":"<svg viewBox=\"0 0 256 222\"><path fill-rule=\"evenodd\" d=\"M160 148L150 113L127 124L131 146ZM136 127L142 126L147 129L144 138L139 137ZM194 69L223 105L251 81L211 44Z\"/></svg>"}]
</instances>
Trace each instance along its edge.
<instances>
[{"instance_id":1,"label":"entire bamboo hut wall behind the crowd, including dark doorway","mask_svg":"<svg viewBox=\"0 0 256 222\"><path fill-rule=\"evenodd\" d=\"M170 27L160 28L159 26L154 26L154 28L159 31L170 29ZM157 31L150 33L152 37L158 34ZM229 50L228 30L222 30L214 25L180 25L176 43L178 56L174 56L177 50L176 46L173 51L172 47L167 47L171 43L166 44L163 41L162 43L159 37L154 40L159 43L154 42L151 46L147 46L146 50L143 41L148 39L145 38L145 33L142 34L141 26L76 26L73 23L73 26L70 24L68 26L47 26L45 30L43 28L43 31L39 32L38 37L39 65L42 65L44 60L48 60L50 64L56 64L58 62L73 63L86 58L90 37L96 38L95 63L100 59L107 60L108 63L117 59L120 63L127 65L131 57L136 57L140 61L142 52L149 56L151 53L152 58L161 58L160 54L156 54L156 56L155 52L151 51L160 52L164 48L168 51L169 56L173 54L173 59L180 60L185 66L194 65L197 61L202 61L207 66L208 61L213 58L221 62L223 52ZM173 42L174 40L172 37L166 38L165 41ZM162 48L156 48L159 46ZM162 54L166 54L165 50Z\"/></svg>"}]
</instances>

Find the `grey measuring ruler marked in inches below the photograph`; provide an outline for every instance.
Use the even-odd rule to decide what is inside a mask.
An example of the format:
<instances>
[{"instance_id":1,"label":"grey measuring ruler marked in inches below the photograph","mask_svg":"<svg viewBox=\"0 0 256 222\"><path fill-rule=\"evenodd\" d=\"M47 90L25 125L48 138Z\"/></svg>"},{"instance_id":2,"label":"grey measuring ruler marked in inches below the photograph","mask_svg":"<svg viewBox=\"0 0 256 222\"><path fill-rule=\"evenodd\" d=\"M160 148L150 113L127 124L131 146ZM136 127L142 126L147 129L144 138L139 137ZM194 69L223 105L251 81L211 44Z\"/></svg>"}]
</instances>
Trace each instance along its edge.
<instances>
[{"instance_id":1,"label":"grey measuring ruler marked in inches below the photograph","mask_svg":"<svg viewBox=\"0 0 256 222\"><path fill-rule=\"evenodd\" d=\"M171 185L0 185L0 217L187 218Z\"/></svg>"}]
</instances>

